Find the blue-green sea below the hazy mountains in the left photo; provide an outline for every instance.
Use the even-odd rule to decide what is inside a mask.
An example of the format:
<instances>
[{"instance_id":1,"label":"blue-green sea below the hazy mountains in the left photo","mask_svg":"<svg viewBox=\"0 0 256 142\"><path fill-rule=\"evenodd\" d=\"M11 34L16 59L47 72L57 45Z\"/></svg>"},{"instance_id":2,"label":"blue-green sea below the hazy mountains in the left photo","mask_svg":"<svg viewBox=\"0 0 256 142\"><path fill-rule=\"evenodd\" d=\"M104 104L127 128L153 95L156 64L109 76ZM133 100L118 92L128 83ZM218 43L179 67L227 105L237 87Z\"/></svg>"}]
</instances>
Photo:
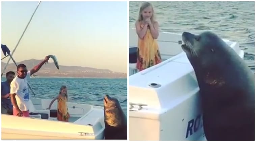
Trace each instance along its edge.
<instances>
[{"instance_id":1,"label":"blue-green sea below the hazy mountains in the left photo","mask_svg":"<svg viewBox=\"0 0 256 142\"><path fill-rule=\"evenodd\" d=\"M5 81L2 77L2 81ZM103 97L108 94L118 99L127 115L127 79L102 78L33 78L28 80L36 94L36 98L53 99L60 87L66 85L69 102L103 106ZM30 91L30 97L34 98Z\"/></svg>"}]
</instances>

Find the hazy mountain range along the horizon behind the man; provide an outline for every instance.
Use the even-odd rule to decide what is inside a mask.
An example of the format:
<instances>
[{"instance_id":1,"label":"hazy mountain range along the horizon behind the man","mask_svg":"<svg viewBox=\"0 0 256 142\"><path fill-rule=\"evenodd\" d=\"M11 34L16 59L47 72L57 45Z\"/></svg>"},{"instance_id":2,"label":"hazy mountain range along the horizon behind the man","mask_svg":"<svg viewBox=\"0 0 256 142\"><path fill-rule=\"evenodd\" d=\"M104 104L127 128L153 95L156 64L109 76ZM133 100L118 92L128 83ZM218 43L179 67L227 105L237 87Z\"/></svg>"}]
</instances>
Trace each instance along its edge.
<instances>
[{"instance_id":1,"label":"hazy mountain range along the horizon behind the man","mask_svg":"<svg viewBox=\"0 0 256 142\"><path fill-rule=\"evenodd\" d=\"M27 66L27 69L32 69L42 60L30 59L17 62L17 65L23 63ZM6 63L2 62L2 70ZM62 66L59 65L59 70L54 63L46 63L42 68L35 73L38 77L97 77L97 78L127 78L127 73L114 72L108 69L97 69L90 67L80 66ZM14 63L8 64L4 73L8 71L14 71L16 73L16 66Z\"/></svg>"}]
</instances>

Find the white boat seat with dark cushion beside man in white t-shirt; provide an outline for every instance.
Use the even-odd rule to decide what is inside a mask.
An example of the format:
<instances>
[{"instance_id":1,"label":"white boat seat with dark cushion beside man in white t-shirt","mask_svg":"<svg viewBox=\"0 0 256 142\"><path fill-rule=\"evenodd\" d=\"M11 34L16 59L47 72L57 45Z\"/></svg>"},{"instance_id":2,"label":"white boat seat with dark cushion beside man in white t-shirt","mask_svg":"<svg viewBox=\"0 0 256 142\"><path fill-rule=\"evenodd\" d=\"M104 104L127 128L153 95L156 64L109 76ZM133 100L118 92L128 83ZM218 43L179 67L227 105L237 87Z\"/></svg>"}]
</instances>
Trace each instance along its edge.
<instances>
[{"instance_id":1,"label":"white boat seat with dark cushion beside man in white t-shirt","mask_svg":"<svg viewBox=\"0 0 256 142\"><path fill-rule=\"evenodd\" d=\"M36 115L41 115L41 119L49 119L50 110L36 110L31 99L29 99L29 115L35 117Z\"/></svg>"}]
</instances>

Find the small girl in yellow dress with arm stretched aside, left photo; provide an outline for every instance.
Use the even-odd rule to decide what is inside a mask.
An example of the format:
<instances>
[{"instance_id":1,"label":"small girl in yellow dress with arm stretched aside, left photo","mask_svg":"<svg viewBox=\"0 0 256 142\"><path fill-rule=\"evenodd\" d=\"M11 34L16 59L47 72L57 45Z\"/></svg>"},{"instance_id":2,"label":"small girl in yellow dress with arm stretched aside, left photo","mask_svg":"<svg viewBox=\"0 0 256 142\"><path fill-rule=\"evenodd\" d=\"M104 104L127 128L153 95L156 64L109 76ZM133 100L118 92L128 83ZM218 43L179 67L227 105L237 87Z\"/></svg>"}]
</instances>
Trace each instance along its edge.
<instances>
[{"instance_id":1,"label":"small girl in yellow dress with arm stretched aside, left photo","mask_svg":"<svg viewBox=\"0 0 256 142\"><path fill-rule=\"evenodd\" d=\"M68 113L67 109L67 87L61 86L59 95L56 96L50 103L49 107L47 109L50 109L53 102L58 99L58 106L57 106L57 119L59 121L65 121L68 122L68 119L70 118L70 115Z\"/></svg>"}]
</instances>

